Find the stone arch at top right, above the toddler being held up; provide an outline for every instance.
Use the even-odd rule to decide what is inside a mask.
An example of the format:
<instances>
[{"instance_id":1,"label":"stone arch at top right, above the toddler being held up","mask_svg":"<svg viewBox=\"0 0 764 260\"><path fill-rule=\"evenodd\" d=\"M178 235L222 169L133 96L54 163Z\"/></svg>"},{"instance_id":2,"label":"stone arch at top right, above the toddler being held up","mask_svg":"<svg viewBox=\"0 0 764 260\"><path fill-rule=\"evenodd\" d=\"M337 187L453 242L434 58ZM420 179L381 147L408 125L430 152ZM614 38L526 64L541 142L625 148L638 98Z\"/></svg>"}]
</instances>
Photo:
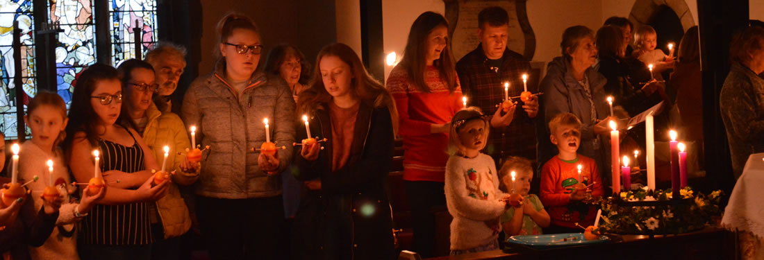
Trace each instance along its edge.
<instances>
[{"instance_id":1,"label":"stone arch at top right, above the toddler being held up","mask_svg":"<svg viewBox=\"0 0 764 260\"><path fill-rule=\"evenodd\" d=\"M687 31L695 25L690 8L685 0L636 0L631 8L629 20L637 28L643 24L649 24L653 15L659 11L659 6L666 5L672 9L681 21L681 27Z\"/></svg>"}]
</instances>

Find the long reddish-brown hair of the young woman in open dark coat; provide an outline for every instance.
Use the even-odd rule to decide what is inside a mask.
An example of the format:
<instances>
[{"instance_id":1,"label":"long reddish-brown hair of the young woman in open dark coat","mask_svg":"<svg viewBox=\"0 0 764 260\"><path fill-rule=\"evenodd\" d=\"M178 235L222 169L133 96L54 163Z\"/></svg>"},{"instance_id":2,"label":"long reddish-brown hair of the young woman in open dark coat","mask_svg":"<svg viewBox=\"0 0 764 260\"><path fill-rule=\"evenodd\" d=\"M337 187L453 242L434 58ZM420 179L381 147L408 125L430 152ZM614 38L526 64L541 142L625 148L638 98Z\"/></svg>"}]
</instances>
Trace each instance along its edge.
<instances>
[{"instance_id":1,"label":"long reddish-brown hair of the young woman in open dark coat","mask_svg":"<svg viewBox=\"0 0 764 260\"><path fill-rule=\"evenodd\" d=\"M325 56L336 56L343 63L350 66L353 73L351 81L352 93L361 99L362 102L371 105L373 108L387 107L390 111L390 119L393 121L393 130L397 130L398 112L395 108L395 101L387 88L369 75L366 67L361 63L358 54L345 43L332 43L324 47L316 58L316 64L321 63ZM321 69L316 68L313 72L309 88L299 94L297 101L299 114L312 114L319 107L319 103L329 103L332 101L332 95L326 91L324 81L321 79Z\"/></svg>"}]
</instances>

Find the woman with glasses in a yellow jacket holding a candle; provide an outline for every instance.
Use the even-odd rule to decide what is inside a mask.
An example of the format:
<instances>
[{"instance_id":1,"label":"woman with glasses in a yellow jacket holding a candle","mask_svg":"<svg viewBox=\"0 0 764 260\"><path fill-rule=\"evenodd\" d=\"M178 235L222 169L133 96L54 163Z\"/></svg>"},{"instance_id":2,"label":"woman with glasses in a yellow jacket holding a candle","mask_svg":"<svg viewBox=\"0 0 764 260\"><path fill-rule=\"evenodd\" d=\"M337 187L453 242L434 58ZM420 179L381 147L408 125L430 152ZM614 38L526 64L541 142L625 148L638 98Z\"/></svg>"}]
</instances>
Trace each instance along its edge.
<instances>
[{"instance_id":1,"label":"woman with glasses in a yellow jacket holding a candle","mask_svg":"<svg viewBox=\"0 0 764 260\"><path fill-rule=\"evenodd\" d=\"M183 121L170 111L160 112L151 101L151 95L158 87L151 64L128 59L117 71L125 101L122 111L128 115L121 123L141 134L157 162L164 159L163 146L170 148L167 172L175 174L171 177L167 194L149 205L151 233L154 233L151 255L154 259L177 259L180 257L180 236L191 228L191 217L176 184L192 185L199 178L199 165L179 154L191 147Z\"/></svg>"}]
</instances>

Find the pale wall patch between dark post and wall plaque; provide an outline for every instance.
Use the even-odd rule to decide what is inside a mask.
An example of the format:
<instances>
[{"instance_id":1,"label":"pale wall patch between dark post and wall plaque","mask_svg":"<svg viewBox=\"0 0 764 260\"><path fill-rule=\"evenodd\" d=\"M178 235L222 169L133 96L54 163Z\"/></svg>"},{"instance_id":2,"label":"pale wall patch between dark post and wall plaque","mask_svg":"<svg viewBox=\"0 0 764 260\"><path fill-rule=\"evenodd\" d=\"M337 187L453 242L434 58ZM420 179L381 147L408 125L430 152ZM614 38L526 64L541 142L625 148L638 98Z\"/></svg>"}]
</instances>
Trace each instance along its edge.
<instances>
[{"instance_id":1,"label":"pale wall patch between dark post and wall plaque","mask_svg":"<svg viewBox=\"0 0 764 260\"><path fill-rule=\"evenodd\" d=\"M443 0L384 0L382 2L382 33L384 34L384 53L395 52L403 54L406 48L406 38L409 37L411 24L419 14L425 11L435 11L445 15ZM390 74L392 66L385 66L384 77Z\"/></svg>"}]
</instances>

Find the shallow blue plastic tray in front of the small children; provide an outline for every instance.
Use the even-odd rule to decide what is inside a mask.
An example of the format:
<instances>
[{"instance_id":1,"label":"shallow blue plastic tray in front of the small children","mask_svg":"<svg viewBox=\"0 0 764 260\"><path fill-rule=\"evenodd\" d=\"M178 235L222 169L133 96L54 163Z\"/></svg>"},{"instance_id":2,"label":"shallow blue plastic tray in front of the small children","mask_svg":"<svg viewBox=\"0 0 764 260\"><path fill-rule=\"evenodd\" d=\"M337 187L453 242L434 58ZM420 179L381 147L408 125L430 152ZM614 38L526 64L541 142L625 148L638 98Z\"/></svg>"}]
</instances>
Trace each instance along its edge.
<instances>
[{"instance_id":1,"label":"shallow blue plastic tray in front of the small children","mask_svg":"<svg viewBox=\"0 0 764 260\"><path fill-rule=\"evenodd\" d=\"M610 242L607 236L600 236L597 240L584 239L584 233L563 233L539 236L510 236L507 242L528 246L533 249L550 249L563 246L581 246L596 244L601 242Z\"/></svg>"}]
</instances>

